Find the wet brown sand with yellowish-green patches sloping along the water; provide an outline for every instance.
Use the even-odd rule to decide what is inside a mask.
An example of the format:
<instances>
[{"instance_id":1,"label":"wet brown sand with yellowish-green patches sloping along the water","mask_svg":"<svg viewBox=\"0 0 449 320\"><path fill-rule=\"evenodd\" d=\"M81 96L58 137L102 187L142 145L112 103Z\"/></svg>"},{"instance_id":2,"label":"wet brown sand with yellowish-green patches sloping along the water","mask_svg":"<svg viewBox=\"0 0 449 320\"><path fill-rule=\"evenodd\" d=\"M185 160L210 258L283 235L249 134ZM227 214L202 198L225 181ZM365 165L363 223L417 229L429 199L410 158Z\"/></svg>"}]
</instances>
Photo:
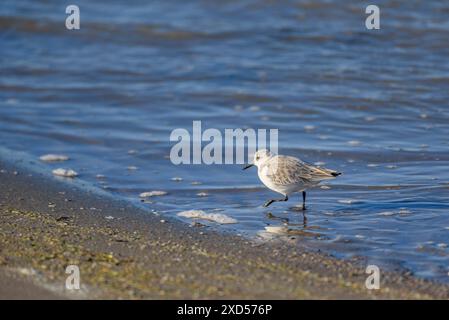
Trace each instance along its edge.
<instances>
[{"instance_id":1,"label":"wet brown sand with yellowish-green patches sloping along the water","mask_svg":"<svg viewBox=\"0 0 449 320\"><path fill-rule=\"evenodd\" d=\"M0 160L0 298L434 299L449 287L382 272L364 259L256 243L188 226ZM108 218L106 218L108 217ZM65 290L65 268L81 290Z\"/></svg>"}]
</instances>

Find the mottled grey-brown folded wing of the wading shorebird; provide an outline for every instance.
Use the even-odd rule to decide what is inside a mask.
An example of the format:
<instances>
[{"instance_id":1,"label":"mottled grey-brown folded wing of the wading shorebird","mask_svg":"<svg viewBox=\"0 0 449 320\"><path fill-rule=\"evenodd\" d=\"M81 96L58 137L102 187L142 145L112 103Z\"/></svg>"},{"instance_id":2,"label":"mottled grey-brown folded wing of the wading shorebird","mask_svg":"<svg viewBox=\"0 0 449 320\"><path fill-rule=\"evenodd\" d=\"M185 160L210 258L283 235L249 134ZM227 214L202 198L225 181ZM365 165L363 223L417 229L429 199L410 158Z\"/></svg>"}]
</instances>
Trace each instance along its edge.
<instances>
[{"instance_id":1,"label":"mottled grey-brown folded wing of the wading shorebird","mask_svg":"<svg viewBox=\"0 0 449 320\"><path fill-rule=\"evenodd\" d=\"M266 174L278 185L313 183L332 179L337 174L335 171L314 167L288 156L275 156L265 166Z\"/></svg>"}]
</instances>

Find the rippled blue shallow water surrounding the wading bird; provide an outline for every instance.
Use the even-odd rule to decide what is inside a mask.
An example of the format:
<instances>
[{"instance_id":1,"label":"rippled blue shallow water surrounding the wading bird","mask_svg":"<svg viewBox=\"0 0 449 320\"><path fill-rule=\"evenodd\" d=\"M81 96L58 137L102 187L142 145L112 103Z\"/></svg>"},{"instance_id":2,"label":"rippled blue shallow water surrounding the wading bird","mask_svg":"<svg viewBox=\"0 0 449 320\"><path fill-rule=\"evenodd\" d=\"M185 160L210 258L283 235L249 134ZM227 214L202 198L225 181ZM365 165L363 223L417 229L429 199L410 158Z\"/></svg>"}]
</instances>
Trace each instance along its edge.
<instances>
[{"instance_id":1,"label":"rippled blue shallow water surrounding the wading bird","mask_svg":"<svg viewBox=\"0 0 449 320\"><path fill-rule=\"evenodd\" d=\"M2 1L1 146L66 154L48 170L133 202L166 191L144 203L166 215L285 226L298 245L449 280L449 3L382 2L378 31L359 1L124 3L77 1L68 31L59 1ZM344 174L308 193L306 223L299 195L262 208L278 195L255 170L171 164L170 132L194 120L278 128L281 153Z\"/></svg>"}]
</instances>

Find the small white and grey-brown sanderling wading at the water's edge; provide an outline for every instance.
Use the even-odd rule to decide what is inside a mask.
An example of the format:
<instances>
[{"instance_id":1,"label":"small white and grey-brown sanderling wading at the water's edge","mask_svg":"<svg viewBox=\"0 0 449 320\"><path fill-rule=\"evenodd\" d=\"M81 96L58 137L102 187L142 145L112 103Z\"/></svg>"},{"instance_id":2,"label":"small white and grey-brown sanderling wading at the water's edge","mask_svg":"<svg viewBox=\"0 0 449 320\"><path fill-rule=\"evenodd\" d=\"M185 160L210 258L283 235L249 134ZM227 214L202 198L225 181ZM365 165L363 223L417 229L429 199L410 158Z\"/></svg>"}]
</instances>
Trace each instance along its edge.
<instances>
[{"instance_id":1,"label":"small white and grey-brown sanderling wading at the water's edge","mask_svg":"<svg viewBox=\"0 0 449 320\"><path fill-rule=\"evenodd\" d=\"M254 154L254 163L247 165L243 170L252 166L257 167L259 179L265 186L284 196L283 199L268 200L264 207L273 202L287 201L290 194L302 192L302 209L305 210L305 190L341 174L334 170L314 167L294 157L274 155L266 149L257 151Z\"/></svg>"}]
</instances>

